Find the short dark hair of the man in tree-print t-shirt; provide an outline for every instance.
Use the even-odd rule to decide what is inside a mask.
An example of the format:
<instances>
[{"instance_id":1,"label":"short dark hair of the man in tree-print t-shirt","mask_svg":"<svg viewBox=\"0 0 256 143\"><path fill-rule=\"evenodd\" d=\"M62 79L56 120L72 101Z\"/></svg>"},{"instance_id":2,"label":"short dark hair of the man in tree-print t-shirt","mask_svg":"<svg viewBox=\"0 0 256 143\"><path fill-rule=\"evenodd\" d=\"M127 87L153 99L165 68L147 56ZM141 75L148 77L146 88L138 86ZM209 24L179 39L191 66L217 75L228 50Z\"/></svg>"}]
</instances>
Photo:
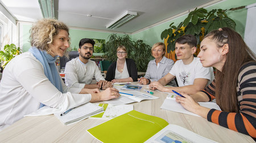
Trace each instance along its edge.
<instances>
[{"instance_id":1,"label":"short dark hair of the man in tree-print t-shirt","mask_svg":"<svg viewBox=\"0 0 256 143\"><path fill-rule=\"evenodd\" d=\"M197 40L196 40L196 36L193 36L191 34L185 34L185 35L177 38L177 40L175 41L175 44L176 43L188 44L190 47L196 47Z\"/></svg>"}]
</instances>

